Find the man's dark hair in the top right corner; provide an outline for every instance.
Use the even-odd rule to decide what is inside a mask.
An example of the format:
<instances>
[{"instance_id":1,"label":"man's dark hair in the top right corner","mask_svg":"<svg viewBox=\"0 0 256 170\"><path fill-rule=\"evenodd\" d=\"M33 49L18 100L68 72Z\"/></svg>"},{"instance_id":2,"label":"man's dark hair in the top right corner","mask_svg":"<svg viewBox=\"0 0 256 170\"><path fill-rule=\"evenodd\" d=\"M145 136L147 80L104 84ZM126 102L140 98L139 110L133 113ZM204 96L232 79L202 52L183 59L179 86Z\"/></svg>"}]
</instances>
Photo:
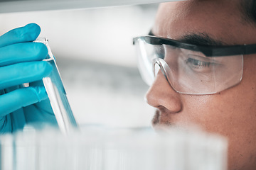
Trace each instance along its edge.
<instances>
[{"instance_id":1,"label":"man's dark hair in the top right corner","mask_svg":"<svg viewBox=\"0 0 256 170\"><path fill-rule=\"evenodd\" d=\"M240 0L245 21L256 24L256 0Z\"/></svg>"}]
</instances>

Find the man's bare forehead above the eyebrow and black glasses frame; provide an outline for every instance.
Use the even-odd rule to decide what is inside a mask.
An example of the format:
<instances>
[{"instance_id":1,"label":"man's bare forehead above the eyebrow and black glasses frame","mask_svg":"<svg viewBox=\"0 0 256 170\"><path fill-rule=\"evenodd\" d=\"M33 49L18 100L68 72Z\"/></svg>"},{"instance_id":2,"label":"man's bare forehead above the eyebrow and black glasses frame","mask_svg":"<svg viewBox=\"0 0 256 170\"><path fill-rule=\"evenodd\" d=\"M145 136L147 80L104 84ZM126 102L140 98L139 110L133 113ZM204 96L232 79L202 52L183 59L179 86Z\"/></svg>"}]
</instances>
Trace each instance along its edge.
<instances>
[{"instance_id":1,"label":"man's bare forehead above the eyebrow and black glasses frame","mask_svg":"<svg viewBox=\"0 0 256 170\"><path fill-rule=\"evenodd\" d=\"M176 40L185 35L206 33L230 45L250 43L253 40L248 42L245 34L241 36L250 28L245 26L238 2L235 2L191 0L161 4L153 31L156 35Z\"/></svg>"}]
</instances>

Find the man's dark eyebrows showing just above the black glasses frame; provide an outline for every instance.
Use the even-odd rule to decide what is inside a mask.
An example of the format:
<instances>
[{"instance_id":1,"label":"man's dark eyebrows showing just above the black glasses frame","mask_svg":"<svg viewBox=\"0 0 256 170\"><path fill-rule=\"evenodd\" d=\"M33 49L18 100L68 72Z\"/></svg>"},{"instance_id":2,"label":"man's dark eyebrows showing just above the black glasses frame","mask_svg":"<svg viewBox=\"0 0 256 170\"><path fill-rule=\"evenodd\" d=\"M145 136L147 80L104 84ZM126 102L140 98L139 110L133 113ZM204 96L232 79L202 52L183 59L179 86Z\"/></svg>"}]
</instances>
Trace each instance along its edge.
<instances>
[{"instance_id":1,"label":"man's dark eyebrows showing just above the black glasses frame","mask_svg":"<svg viewBox=\"0 0 256 170\"><path fill-rule=\"evenodd\" d=\"M149 35L154 35L152 31L149 31ZM214 40L207 33L191 33L183 35L182 38L179 38L178 41L193 45L227 45L225 42L220 40Z\"/></svg>"}]
</instances>

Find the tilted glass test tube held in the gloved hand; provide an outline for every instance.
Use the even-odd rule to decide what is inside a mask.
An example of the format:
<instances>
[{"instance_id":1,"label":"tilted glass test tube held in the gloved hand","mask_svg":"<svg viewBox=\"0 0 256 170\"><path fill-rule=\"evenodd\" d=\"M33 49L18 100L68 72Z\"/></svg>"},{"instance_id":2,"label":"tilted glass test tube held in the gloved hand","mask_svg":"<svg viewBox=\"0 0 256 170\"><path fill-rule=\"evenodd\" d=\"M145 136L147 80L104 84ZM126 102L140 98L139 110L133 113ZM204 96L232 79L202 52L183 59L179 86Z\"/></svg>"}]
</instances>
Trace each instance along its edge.
<instances>
[{"instance_id":1,"label":"tilted glass test tube held in the gloved hand","mask_svg":"<svg viewBox=\"0 0 256 170\"><path fill-rule=\"evenodd\" d=\"M50 106L53 109L58 127L61 132L67 134L70 130L78 129L78 124L68 103L60 72L48 45L48 40L46 38L38 38L35 42L42 42L48 49L48 57L43 61L49 62L53 67L53 71L48 77L43 78L43 84L50 99Z\"/></svg>"}]
</instances>

